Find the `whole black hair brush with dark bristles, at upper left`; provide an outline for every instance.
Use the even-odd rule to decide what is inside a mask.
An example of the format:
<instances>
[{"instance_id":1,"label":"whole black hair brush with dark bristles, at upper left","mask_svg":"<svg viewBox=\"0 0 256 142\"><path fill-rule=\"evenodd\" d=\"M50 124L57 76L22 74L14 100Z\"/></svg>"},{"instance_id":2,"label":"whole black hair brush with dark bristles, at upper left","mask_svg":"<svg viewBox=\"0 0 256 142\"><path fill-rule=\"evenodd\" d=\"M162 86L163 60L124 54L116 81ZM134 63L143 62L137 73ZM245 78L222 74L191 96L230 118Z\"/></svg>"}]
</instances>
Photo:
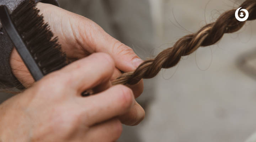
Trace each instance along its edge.
<instances>
[{"instance_id":1,"label":"whole black hair brush with dark bristles, at upper left","mask_svg":"<svg viewBox=\"0 0 256 142\"><path fill-rule=\"evenodd\" d=\"M53 38L49 25L39 15L36 4L25 0L10 14L0 6L0 20L18 54L35 81L67 65L57 37Z\"/></svg>"}]
</instances>

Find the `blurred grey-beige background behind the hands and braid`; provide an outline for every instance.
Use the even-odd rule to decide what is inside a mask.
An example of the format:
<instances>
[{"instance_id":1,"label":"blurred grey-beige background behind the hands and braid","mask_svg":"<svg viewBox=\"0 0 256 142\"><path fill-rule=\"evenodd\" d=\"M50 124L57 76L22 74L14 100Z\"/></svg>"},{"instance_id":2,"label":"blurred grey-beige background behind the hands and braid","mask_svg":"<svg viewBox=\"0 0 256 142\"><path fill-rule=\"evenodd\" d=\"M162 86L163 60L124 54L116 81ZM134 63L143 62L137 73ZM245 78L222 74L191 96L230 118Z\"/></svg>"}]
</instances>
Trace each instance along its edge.
<instances>
[{"instance_id":1,"label":"blurred grey-beige background behind the hands and braid","mask_svg":"<svg viewBox=\"0 0 256 142\"><path fill-rule=\"evenodd\" d=\"M98 23L142 59L172 47L244 0L59 0ZM145 80L146 111L120 142L244 142L256 131L255 21ZM0 95L5 100L10 95ZM249 141L248 141L249 142ZM255 141L250 141L255 142Z\"/></svg>"}]
</instances>

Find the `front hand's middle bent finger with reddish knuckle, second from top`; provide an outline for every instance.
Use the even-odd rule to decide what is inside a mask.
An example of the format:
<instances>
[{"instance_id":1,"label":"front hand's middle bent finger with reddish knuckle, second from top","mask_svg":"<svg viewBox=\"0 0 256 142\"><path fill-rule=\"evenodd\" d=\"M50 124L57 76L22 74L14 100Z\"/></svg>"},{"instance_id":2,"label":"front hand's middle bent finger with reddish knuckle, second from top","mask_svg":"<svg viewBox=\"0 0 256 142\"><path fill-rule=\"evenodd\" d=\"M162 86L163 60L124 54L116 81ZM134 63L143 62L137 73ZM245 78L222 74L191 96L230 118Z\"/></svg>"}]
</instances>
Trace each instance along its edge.
<instances>
[{"instance_id":1,"label":"front hand's middle bent finger with reddish knuckle, second from top","mask_svg":"<svg viewBox=\"0 0 256 142\"><path fill-rule=\"evenodd\" d=\"M78 101L85 124L89 126L125 114L135 102L132 90L123 85L113 86Z\"/></svg>"}]
</instances>

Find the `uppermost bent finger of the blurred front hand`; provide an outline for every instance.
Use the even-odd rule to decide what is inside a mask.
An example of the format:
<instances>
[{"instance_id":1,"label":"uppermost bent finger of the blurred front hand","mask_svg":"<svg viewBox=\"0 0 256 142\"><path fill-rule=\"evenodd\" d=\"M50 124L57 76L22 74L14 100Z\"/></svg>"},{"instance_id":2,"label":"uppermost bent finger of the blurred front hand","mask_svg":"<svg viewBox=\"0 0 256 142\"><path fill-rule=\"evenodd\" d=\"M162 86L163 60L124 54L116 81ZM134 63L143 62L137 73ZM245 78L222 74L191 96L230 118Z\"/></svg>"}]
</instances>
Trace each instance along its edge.
<instances>
[{"instance_id":1,"label":"uppermost bent finger of the blurred front hand","mask_svg":"<svg viewBox=\"0 0 256 142\"><path fill-rule=\"evenodd\" d=\"M112 58L105 53L95 53L73 62L58 73L63 74L65 86L70 86L81 93L109 81L113 71Z\"/></svg>"}]
</instances>

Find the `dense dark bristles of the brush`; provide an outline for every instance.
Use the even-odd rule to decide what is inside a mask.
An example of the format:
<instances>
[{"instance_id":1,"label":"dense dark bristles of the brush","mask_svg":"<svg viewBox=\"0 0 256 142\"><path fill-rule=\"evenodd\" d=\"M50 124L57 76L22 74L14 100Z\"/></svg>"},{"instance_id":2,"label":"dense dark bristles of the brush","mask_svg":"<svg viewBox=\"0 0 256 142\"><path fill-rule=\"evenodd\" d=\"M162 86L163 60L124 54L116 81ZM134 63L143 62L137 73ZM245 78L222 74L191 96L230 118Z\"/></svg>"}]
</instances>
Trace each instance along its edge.
<instances>
[{"instance_id":1,"label":"dense dark bristles of the brush","mask_svg":"<svg viewBox=\"0 0 256 142\"><path fill-rule=\"evenodd\" d=\"M25 0L12 12L11 19L37 65L47 75L67 65L66 55L35 6L32 0Z\"/></svg>"}]
</instances>

